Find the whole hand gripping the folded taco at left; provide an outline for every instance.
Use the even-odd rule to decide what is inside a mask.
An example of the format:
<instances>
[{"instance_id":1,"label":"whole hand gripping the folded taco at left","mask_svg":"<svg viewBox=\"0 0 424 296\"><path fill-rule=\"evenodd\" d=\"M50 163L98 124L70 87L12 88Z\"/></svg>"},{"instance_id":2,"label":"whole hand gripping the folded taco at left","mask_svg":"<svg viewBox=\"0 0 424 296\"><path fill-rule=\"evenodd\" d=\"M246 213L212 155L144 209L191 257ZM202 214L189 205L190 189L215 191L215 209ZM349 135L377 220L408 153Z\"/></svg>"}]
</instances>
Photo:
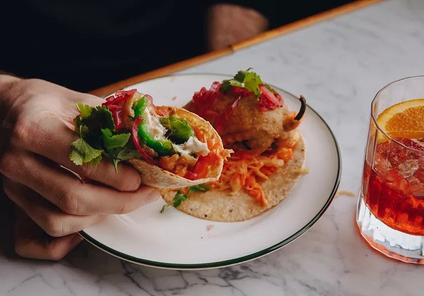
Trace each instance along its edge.
<instances>
[{"instance_id":1,"label":"whole hand gripping the folded taco at left","mask_svg":"<svg viewBox=\"0 0 424 296\"><path fill-rule=\"evenodd\" d=\"M103 100L39 79L0 75L3 188L51 237L40 251L21 239L25 227L17 224L15 251L21 256L60 259L80 241L76 232L108 214L132 212L160 196L156 188L140 186L140 174L124 163L118 164L116 174L107 159L95 166L77 166L69 160L71 143L79 137L73 131L76 102L98 106ZM56 246L56 251L50 252L49 246Z\"/></svg>"}]
</instances>

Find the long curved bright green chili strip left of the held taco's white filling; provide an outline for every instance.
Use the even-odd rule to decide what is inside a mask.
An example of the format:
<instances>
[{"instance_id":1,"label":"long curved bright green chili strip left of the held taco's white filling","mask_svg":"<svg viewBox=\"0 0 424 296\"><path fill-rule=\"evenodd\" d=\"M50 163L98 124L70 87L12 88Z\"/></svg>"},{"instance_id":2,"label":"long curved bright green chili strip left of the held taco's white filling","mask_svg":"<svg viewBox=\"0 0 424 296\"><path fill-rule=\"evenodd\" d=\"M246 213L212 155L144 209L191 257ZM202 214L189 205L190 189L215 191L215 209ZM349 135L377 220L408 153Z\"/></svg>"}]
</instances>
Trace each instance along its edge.
<instances>
[{"instance_id":1,"label":"long curved bright green chili strip left of the held taco's white filling","mask_svg":"<svg viewBox=\"0 0 424 296\"><path fill-rule=\"evenodd\" d=\"M134 118L141 116L143 119L138 129L138 135L140 140L146 146L155 150L159 155L173 155L176 153L172 142L169 140L155 140L151 134L147 131L146 126L146 117L144 115L144 110L146 109L149 100L146 97L142 97L140 100L133 104Z\"/></svg>"}]
</instances>

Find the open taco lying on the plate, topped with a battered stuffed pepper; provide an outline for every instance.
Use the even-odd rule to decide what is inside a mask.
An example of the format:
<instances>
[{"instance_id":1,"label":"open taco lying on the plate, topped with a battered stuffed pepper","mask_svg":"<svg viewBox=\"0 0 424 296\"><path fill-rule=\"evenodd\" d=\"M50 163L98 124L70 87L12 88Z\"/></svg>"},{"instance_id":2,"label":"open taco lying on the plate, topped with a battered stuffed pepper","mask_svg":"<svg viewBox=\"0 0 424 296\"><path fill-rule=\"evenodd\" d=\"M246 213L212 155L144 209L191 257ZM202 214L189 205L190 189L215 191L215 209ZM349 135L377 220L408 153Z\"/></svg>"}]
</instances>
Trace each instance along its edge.
<instances>
[{"instance_id":1,"label":"open taco lying on the plate, topped with a battered stuffed pepper","mask_svg":"<svg viewBox=\"0 0 424 296\"><path fill-rule=\"evenodd\" d=\"M207 119L232 149L217 181L161 190L169 205L222 222L250 219L276 206L305 173L306 148L297 127L306 111L288 110L283 97L259 75L239 71L195 92L184 106Z\"/></svg>"}]
</instances>

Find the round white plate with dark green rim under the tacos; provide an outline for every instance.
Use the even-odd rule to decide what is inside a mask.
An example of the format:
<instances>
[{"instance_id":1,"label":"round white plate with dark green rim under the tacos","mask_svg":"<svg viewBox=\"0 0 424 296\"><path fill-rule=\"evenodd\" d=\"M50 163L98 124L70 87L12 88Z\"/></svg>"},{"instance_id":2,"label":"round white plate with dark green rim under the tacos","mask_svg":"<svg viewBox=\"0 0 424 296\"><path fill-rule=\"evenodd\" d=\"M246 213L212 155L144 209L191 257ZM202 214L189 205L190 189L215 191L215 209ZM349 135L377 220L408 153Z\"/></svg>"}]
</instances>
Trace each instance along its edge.
<instances>
[{"instance_id":1,"label":"round white plate with dark green rim under the tacos","mask_svg":"<svg viewBox=\"0 0 424 296\"><path fill-rule=\"evenodd\" d=\"M183 106L202 86L228 78L222 74L177 74L125 89L150 94L156 105ZM273 86L290 110L297 96ZM174 99L173 99L174 98ZM306 98L308 99L308 98ZM276 207L244 222L212 222L169 207L160 199L127 214L112 215L80 234L103 251L135 263L171 269L206 269L255 259L305 233L330 205L340 182L341 158L328 125L308 106L300 126L306 143L304 175ZM208 230L209 229L209 230Z\"/></svg>"}]
</instances>

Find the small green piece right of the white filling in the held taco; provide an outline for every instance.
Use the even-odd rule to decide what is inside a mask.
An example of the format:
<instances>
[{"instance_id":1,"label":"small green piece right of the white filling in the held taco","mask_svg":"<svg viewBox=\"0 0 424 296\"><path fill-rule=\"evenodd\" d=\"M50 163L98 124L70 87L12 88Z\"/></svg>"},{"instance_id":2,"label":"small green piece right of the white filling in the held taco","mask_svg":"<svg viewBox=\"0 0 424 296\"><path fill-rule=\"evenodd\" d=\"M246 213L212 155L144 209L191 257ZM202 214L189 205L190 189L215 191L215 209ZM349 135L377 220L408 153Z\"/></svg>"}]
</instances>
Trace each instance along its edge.
<instances>
[{"instance_id":1,"label":"small green piece right of the white filling in the held taco","mask_svg":"<svg viewBox=\"0 0 424 296\"><path fill-rule=\"evenodd\" d=\"M185 143L188 138L195 137L193 129L185 118L162 117L160 122L168 129L166 137L176 144Z\"/></svg>"}]
</instances>

